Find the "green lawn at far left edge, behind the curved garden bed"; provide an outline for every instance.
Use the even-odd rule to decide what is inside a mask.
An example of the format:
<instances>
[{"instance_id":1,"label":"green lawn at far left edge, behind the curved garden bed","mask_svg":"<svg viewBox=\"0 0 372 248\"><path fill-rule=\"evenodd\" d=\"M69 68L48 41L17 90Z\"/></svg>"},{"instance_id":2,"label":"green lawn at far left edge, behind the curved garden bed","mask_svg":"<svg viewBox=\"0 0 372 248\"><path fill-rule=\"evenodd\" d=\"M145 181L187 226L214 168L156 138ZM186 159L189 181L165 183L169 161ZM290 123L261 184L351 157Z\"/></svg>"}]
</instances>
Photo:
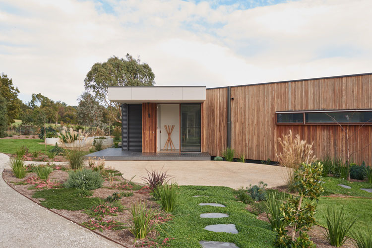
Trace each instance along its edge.
<instances>
[{"instance_id":1,"label":"green lawn at far left edge, behind the curved garden bed","mask_svg":"<svg viewBox=\"0 0 372 248\"><path fill-rule=\"evenodd\" d=\"M0 152L15 154L15 151L22 145L29 148L28 152L45 151L44 142L42 139L0 139ZM47 145L47 150L51 150L53 146Z\"/></svg>"}]
</instances>

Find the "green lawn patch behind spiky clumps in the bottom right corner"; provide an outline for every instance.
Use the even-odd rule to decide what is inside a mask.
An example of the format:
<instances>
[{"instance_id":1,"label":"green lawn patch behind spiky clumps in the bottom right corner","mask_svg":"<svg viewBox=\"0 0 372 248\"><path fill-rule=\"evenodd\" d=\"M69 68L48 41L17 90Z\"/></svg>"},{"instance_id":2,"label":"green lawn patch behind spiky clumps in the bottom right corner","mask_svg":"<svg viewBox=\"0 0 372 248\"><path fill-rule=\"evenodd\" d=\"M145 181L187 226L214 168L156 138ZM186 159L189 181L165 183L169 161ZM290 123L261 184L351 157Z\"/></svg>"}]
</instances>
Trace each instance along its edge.
<instances>
[{"instance_id":1,"label":"green lawn patch behind spiky clumps in the bottom right corner","mask_svg":"<svg viewBox=\"0 0 372 248\"><path fill-rule=\"evenodd\" d=\"M372 223L372 199L365 198L334 198L334 197L321 197L318 207L316 208L316 220L318 224L322 227L327 227L327 222L325 219L325 214L327 212L327 207L333 208L337 206L338 208L344 207L346 213L352 215L353 217L358 216L358 222L351 229L357 230L368 230L368 227Z\"/></svg>"}]
</instances>

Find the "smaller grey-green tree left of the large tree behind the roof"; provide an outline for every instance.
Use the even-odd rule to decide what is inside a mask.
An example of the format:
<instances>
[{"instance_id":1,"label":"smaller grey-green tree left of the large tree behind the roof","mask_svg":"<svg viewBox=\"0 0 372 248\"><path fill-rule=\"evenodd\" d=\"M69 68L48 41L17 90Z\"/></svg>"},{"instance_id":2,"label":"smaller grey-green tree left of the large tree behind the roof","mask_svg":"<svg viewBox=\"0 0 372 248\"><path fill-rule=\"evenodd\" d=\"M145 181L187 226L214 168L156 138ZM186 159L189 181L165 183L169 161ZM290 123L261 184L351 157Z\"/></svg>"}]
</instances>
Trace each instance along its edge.
<instances>
[{"instance_id":1,"label":"smaller grey-green tree left of the large tree behind the roof","mask_svg":"<svg viewBox=\"0 0 372 248\"><path fill-rule=\"evenodd\" d=\"M94 96L85 91L78 98L79 105L77 106L78 119L84 125L102 126L103 112L105 108L100 106Z\"/></svg>"}]
</instances>

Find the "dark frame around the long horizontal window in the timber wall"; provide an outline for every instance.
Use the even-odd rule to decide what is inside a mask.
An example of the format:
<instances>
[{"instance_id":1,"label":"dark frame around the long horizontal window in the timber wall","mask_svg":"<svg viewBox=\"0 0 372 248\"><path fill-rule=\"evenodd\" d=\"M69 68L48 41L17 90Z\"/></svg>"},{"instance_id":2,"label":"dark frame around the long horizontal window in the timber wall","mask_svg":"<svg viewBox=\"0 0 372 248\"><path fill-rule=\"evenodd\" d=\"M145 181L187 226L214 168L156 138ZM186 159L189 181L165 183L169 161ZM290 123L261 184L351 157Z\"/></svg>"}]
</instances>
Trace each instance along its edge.
<instances>
[{"instance_id":1,"label":"dark frame around the long horizontal window in the timber wall","mask_svg":"<svg viewBox=\"0 0 372 248\"><path fill-rule=\"evenodd\" d=\"M308 113L348 113L348 112L372 112L372 109L359 109L359 110L309 110L309 111L276 111L275 112L275 124L277 125L372 125L372 122L333 122L333 123L307 123L305 114ZM278 114L303 114L303 123L278 123Z\"/></svg>"}]
</instances>

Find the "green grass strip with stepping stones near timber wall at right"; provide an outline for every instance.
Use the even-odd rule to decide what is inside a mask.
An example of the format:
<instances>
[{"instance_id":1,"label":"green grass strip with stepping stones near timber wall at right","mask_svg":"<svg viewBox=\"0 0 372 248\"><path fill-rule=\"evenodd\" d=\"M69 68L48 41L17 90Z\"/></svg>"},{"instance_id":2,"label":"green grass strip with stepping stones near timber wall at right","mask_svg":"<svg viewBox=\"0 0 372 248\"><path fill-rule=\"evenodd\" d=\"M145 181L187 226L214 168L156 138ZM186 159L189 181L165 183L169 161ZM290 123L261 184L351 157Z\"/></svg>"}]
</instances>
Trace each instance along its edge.
<instances>
[{"instance_id":1,"label":"green grass strip with stepping stones near timber wall at right","mask_svg":"<svg viewBox=\"0 0 372 248\"><path fill-rule=\"evenodd\" d=\"M343 180L340 178L323 178L322 180L325 182L322 184L324 187L324 194L323 195L329 195L329 194L345 194L345 195L351 195L351 196L362 196L362 197L371 197L372 193L361 190L360 188L372 188L372 184L368 184L366 182L348 182L347 180ZM341 186L338 186L338 184L343 184L346 186L351 186L351 188L343 188Z\"/></svg>"}]
</instances>

